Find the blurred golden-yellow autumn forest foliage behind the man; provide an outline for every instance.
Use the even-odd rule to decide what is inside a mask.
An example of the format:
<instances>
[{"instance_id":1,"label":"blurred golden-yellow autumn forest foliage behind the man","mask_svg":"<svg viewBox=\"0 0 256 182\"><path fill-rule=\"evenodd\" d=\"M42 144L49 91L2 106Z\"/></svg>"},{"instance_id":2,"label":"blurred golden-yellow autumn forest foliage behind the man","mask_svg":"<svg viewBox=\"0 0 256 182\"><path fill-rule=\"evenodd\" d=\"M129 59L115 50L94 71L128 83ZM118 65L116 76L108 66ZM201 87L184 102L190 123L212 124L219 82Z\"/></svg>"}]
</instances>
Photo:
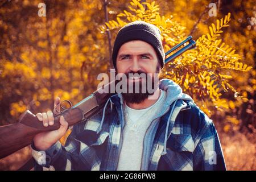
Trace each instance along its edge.
<instances>
[{"instance_id":1,"label":"blurred golden-yellow autumn forest foliage behind the man","mask_svg":"<svg viewBox=\"0 0 256 182\"><path fill-rule=\"evenodd\" d=\"M46 16L39 16L39 3ZM112 66L117 31L137 19L160 28L165 51L193 36L197 48L166 65L162 77L213 119L228 170L255 170L254 0L2 0L0 125L15 123L26 109L52 110L56 96L76 104L92 93L97 75ZM0 159L0 170L16 170L30 157L25 147Z\"/></svg>"}]
</instances>

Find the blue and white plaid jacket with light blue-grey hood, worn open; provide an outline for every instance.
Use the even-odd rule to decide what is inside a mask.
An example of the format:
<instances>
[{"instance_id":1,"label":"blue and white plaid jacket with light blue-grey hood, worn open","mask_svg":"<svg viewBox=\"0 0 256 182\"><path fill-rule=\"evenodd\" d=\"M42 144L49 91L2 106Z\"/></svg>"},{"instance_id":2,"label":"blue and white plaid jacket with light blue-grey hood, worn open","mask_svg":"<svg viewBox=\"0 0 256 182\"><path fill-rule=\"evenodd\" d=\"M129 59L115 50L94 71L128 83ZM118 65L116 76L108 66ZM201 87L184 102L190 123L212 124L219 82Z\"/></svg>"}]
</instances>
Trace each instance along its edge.
<instances>
[{"instance_id":1,"label":"blue and white plaid jacket with light blue-grey hood, worn open","mask_svg":"<svg viewBox=\"0 0 256 182\"><path fill-rule=\"evenodd\" d=\"M167 92L166 108L145 135L141 170L226 170L212 120L175 82L161 80L159 88ZM32 144L35 169L116 170L125 125L122 104L120 95L110 97L105 112L73 126L65 146L57 142L44 151L44 164Z\"/></svg>"}]
</instances>

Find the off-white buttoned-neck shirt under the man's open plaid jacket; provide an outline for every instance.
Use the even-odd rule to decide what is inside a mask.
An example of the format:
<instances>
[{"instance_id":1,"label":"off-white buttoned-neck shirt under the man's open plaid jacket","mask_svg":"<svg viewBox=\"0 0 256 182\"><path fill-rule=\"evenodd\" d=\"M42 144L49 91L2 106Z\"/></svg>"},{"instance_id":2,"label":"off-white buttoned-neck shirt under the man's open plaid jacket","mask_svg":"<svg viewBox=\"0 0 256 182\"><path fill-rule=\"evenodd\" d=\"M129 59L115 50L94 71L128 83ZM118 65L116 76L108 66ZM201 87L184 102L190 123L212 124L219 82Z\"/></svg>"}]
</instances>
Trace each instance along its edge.
<instances>
[{"instance_id":1,"label":"off-white buttoned-neck shirt under the man's open plaid jacket","mask_svg":"<svg viewBox=\"0 0 256 182\"><path fill-rule=\"evenodd\" d=\"M158 101L145 109L132 109L125 104L125 127L118 171L139 171L141 169L144 136L152 120L163 106L166 95L167 93L161 90Z\"/></svg>"}]
</instances>

